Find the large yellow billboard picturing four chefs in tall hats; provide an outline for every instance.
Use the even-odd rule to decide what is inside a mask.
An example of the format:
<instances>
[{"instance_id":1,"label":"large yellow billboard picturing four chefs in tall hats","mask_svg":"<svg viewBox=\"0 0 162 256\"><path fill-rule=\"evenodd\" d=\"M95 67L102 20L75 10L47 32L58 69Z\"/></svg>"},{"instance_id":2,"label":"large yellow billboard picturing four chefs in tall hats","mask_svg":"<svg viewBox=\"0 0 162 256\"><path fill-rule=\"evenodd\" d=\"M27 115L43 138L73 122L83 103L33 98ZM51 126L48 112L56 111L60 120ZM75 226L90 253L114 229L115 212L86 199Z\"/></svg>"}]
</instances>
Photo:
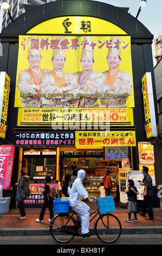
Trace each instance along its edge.
<instances>
[{"instance_id":1,"label":"large yellow billboard picturing four chefs in tall hats","mask_svg":"<svg viewBox=\"0 0 162 256\"><path fill-rule=\"evenodd\" d=\"M15 107L134 107L130 36L21 35Z\"/></svg>"}]
</instances>

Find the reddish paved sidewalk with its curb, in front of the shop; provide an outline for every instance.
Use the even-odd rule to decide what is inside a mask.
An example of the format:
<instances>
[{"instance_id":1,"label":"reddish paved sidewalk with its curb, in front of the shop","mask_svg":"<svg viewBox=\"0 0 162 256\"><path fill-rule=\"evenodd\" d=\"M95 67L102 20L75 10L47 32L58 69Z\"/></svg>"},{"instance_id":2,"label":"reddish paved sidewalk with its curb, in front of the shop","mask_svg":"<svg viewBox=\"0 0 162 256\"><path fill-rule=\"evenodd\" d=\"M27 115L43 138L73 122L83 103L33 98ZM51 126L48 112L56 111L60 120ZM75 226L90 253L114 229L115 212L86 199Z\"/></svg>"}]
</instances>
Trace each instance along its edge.
<instances>
[{"instance_id":1,"label":"reddish paved sidewalk with its curb, in front of the shop","mask_svg":"<svg viewBox=\"0 0 162 256\"><path fill-rule=\"evenodd\" d=\"M162 234L162 210L154 210L154 220L145 220L145 217L137 214L138 222L127 223L124 221L125 218L128 218L127 209L118 209L112 214L119 218L122 225L122 234ZM0 236L50 235L47 232L50 224L48 222L48 209L44 215L43 223L36 222L40 209L25 209L25 211L25 220L18 218L20 217L19 209L9 211L7 214L0 214ZM133 214L131 217L133 218ZM93 222L90 223L89 228L93 228Z\"/></svg>"}]
</instances>

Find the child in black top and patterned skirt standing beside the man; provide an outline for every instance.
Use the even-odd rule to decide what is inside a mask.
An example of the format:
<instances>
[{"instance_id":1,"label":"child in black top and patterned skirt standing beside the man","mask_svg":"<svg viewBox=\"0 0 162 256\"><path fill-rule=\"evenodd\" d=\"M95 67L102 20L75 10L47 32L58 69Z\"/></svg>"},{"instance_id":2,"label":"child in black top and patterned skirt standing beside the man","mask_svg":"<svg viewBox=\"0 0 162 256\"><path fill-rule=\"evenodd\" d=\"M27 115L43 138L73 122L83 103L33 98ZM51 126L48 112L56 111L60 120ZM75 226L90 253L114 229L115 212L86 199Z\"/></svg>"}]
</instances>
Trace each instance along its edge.
<instances>
[{"instance_id":1,"label":"child in black top and patterned skirt standing beside the man","mask_svg":"<svg viewBox=\"0 0 162 256\"><path fill-rule=\"evenodd\" d=\"M132 222L132 221L138 221L137 218L137 187L134 186L134 181L129 179L128 180L128 190L125 190L128 196L128 218L125 220L125 222ZM131 220L131 212L133 211L134 218Z\"/></svg>"}]
</instances>

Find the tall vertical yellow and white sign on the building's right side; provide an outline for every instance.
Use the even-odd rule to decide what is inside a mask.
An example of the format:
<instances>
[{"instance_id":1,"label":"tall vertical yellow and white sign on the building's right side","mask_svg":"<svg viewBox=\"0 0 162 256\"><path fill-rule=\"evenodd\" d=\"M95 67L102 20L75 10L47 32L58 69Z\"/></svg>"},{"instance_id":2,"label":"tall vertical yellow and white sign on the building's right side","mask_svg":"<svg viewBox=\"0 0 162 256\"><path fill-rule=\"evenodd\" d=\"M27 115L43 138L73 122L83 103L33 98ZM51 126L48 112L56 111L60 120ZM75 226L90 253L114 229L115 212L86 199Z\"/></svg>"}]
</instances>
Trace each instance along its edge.
<instances>
[{"instance_id":1,"label":"tall vertical yellow and white sign on the building's right side","mask_svg":"<svg viewBox=\"0 0 162 256\"><path fill-rule=\"evenodd\" d=\"M142 77L142 90L144 97L146 136L147 138L157 137L151 72L146 72Z\"/></svg>"}]
</instances>

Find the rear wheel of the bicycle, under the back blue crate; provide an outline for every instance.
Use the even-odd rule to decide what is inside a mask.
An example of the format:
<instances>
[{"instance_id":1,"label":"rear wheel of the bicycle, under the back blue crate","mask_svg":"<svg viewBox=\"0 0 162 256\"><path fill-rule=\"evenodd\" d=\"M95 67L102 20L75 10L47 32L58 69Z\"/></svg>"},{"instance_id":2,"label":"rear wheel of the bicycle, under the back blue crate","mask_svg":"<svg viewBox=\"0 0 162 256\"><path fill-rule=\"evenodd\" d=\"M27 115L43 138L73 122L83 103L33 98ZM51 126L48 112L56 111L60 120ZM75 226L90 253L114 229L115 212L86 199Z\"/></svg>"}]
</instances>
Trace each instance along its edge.
<instances>
[{"instance_id":1,"label":"rear wheel of the bicycle, under the back blue crate","mask_svg":"<svg viewBox=\"0 0 162 256\"><path fill-rule=\"evenodd\" d=\"M64 231L64 225L67 224L66 227L70 225L72 228L76 225L74 217L70 217L71 216L69 214L58 214L53 218L53 220L51 220L49 230L51 231L51 236L55 241L59 243L68 243L74 238L75 235L67 234Z\"/></svg>"}]
</instances>

